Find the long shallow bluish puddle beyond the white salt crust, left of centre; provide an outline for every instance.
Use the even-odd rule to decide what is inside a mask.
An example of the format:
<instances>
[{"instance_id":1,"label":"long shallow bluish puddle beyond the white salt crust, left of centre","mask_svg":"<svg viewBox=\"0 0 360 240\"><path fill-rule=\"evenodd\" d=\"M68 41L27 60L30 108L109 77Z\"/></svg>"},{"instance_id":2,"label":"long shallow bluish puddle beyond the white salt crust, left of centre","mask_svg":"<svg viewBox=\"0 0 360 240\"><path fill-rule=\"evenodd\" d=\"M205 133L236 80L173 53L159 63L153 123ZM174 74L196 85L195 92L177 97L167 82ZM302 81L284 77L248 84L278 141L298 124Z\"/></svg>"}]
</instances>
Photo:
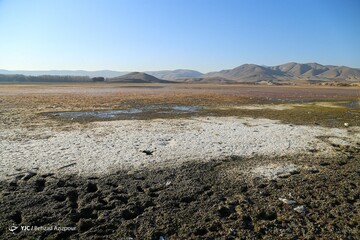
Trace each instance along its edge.
<instances>
[{"instance_id":1,"label":"long shallow bluish puddle beyond the white salt crust, left of centre","mask_svg":"<svg viewBox=\"0 0 360 240\"><path fill-rule=\"evenodd\" d=\"M150 105L141 108L98 110L98 111L78 111L78 112L52 112L49 116L69 119L136 119L144 114L185 114L195 113L201 110L201 106L185 105Z\"/></svg>"}]
</instances>

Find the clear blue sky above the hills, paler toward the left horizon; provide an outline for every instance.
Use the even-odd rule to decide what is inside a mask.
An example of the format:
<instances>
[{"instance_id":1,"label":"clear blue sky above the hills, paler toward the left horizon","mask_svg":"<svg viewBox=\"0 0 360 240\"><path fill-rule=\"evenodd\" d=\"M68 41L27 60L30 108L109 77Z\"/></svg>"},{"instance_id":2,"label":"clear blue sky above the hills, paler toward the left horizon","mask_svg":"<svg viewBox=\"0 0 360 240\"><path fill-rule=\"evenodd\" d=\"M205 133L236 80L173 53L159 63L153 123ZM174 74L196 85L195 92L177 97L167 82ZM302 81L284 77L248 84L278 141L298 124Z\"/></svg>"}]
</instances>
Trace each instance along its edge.
<instances>
[{"instance_id":1,"label":"clear blue sky above the hills, paler toward the left horizon","mask_svg":"<svg viewBox=\"0 0 360 240\"><path fill-rule=\"evenodd\" d=\"M0 69L360 67L359 0L0 0Z\"/></svg>"}]
</instances>

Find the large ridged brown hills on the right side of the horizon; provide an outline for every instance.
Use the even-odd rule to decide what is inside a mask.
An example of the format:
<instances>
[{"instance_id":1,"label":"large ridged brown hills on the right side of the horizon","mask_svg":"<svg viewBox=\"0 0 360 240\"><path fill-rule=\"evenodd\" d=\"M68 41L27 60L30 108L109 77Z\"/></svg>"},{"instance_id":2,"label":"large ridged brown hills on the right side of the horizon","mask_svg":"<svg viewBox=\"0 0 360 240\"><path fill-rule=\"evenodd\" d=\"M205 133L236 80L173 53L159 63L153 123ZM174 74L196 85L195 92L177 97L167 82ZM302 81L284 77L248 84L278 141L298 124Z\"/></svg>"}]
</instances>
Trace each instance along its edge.
<instances>
[{"instance_id":1,"label":"large ridged brown hills on the right side of the horizon","mask_svg":"<svg viewBox=\"0 0 360 240\"><path fill-rule=\"evenodd\" d=\"M292 80L360 81L360 69L324 66L318 63L286 63L278 66L244 64L234 69L211 72L203 78L220 77L236 82L282 82Z\"/></svg>"}]
</instances>

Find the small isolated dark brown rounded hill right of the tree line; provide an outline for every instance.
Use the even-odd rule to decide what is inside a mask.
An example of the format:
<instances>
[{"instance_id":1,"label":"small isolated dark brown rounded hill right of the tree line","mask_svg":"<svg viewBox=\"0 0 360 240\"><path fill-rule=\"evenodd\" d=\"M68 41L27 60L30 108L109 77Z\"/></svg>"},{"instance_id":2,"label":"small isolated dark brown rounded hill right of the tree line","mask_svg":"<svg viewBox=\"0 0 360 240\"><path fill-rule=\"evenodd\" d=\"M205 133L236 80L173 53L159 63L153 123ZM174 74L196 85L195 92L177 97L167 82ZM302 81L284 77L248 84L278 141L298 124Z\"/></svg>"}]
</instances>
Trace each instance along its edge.
<instances>
[{"instance_id":1,"label":"small isolated dark brown rounded hill right of the tree line","mask_svg":"<svg viewBox=\"0 0 360 240\"><path fill-rule=\"evenodd\" d=\"M132 72L126 75L108 78L106 82L117 82L117 83L171 83L171 81L158 79L154 76L143 72Z\"/></svg>"}]
</instances>

